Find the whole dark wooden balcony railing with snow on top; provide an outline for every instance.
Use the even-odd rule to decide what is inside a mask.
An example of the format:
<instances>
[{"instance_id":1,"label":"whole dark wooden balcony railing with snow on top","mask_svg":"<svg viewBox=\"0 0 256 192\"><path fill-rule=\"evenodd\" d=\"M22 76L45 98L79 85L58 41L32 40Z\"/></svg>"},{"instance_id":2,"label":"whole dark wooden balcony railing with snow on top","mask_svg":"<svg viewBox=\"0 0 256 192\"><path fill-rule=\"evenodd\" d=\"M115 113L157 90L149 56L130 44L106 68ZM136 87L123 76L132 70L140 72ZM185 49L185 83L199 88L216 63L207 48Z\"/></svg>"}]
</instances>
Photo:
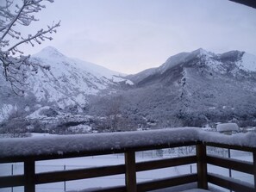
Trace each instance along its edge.
<instances>
[{"instance_id":1,"label":"whole dark wooden balcony railing with snow on top","mask_svg":"<svg viewBox=\"0 0 256 192\"><path fill-rule=\"evenodd\" d=\"M196 146L196 154L181 158L165 158L140 163L135 161L135 152L178 146ZM207 146L252 152L253 163L209 155L206 150ZM125 164L35 173L36 161L112 153L124 153ZM204 133L198 128L188 127L145 132L58 136L45 139L1 139L0 163L15 162L24 163L24 174L0 177L0 188L24 186L25 192L34 192L35 185L42 183L125 174L125 186L97 189L95 191L141 192L164 189L186 183L197 183L198 189L208 189L208 184L213 183L233 191L256 191L256 135L254 134L239 134L233 137ZM166 177L143 183L137 183L136 181L136 173L139 171L184 164L197 164L197 173ZM207 164L251 174L254 177L254 185L241 183L234 178L209 173Z\"/></svg>"}]
</instances>

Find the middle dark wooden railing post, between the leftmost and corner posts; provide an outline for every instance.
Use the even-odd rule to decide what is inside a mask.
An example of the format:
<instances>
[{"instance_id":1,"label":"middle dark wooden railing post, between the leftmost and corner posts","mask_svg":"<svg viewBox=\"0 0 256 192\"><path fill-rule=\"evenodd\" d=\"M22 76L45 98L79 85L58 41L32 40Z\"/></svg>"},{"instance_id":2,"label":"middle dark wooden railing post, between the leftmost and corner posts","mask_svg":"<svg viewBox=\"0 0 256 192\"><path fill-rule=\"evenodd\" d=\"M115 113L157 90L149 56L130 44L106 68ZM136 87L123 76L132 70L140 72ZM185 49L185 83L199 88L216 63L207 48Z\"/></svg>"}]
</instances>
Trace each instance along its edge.
<instances>
[{"instance_id":1,"label":"middle dark wooden railing post, between the leftmost and corner posts","mask_svg":"<svg viewBox=\"0 0 256 192\"><path fill-rule=\"evenodd\" d=\"M125 169L127 192L137 192L135 152L125 153Z\"/></svg>"}]
</instances>

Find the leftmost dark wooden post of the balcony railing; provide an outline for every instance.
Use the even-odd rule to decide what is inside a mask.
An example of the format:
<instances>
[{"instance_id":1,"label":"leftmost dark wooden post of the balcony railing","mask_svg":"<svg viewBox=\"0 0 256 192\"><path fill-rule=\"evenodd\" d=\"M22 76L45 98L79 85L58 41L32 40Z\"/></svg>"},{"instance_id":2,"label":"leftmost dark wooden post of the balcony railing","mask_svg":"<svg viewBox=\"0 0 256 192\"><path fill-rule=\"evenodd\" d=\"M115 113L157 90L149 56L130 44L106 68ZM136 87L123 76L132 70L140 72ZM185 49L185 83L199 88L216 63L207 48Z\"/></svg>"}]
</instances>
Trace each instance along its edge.
<instances>
[{"instance_id":1,"label":"leftmost dark wooden post of the balcony railing","mask_svg":"<svg viewBox=\"0 0 256 192\"><path fill-rule=\"evenodd\" d=\"M34 160L24 162L25 192L35 192L35 168Z\"/></svg>"}]
</instances>

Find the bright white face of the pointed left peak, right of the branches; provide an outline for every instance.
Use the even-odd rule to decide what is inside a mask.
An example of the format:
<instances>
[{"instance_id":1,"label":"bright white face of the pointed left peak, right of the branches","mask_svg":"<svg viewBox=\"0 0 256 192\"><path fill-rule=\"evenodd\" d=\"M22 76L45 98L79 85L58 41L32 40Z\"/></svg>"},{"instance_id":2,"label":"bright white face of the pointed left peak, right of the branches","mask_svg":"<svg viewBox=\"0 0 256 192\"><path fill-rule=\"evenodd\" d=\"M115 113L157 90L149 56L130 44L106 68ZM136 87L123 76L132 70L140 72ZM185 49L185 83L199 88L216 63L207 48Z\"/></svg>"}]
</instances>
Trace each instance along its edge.
<instances>
[{"instance_id":1,"label":"bright white face of the pointed left peak, right of the branches","mask_svg":"<svg viewBox=\"0 0 256 192\"><path fill-rule=\"evenodd\" d=\"M38 74L28 78L30 91L38 101L58 102L59 107L83 105L86 96L96 95L100 90L108 90L118 81L119 73L100 65L78 59L67 58L55 48L48 46L31 58L40 65L49 65L50 70L39 69Z\"/></svg>"}]
</instances>

